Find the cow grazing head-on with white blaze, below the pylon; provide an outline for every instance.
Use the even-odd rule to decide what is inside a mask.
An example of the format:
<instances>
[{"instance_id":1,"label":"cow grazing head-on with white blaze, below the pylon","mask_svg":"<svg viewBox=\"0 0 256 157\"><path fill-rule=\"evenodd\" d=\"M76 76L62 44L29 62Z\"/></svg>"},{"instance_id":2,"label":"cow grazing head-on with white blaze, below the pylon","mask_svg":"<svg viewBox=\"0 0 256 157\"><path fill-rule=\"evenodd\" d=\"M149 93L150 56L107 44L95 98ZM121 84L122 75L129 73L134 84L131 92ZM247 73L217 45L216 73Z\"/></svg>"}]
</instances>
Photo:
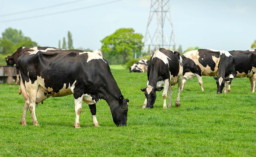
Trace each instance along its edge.
<instances>
[{"instance_id":1,"label":"cow grazing head-on with white blaze, below the pylon","mask_svg":"<svg viewBox=\"0 0 256 157\"><path fill-rule=\"evenodd\" d=\"M159 48L149 60L147 70L147 87L141 91L145 93L146 99L142 108L153 108L156 100L156 91L162 92L164 99L163 108L166 108L167 91L169 95L168 107L172 107L172 85L178 82L178 96L176 98L176 107L180 106L179 95L182 85L182 58L179 52ZM164 85L164 87L162 87Z\"/></svg>"}]
</instances>

